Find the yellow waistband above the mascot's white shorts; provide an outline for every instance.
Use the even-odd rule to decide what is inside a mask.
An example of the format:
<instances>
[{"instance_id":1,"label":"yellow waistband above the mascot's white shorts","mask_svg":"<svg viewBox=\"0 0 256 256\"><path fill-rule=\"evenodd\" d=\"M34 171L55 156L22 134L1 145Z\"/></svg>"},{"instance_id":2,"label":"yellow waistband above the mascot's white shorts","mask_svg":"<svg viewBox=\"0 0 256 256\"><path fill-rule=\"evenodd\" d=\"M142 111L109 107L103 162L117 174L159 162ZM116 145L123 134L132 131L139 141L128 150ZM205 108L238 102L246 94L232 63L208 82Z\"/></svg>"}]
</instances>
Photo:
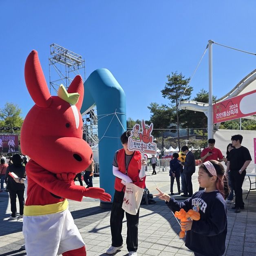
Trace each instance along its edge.
<instances>
[{"instance_id":1,"label":"yellow waistband above the mascot's white shorts","mask_svg":"<svg viewBox=\"0 0 256 256\"><path fill-rule=\"evenodd\" d=\"M63 212L68 208L68 200L64 200L59 203L53 203L50 205L25 205L24 215L25 216L37 216L53 214L57 212Z\"/></svg>"}]
</instances>

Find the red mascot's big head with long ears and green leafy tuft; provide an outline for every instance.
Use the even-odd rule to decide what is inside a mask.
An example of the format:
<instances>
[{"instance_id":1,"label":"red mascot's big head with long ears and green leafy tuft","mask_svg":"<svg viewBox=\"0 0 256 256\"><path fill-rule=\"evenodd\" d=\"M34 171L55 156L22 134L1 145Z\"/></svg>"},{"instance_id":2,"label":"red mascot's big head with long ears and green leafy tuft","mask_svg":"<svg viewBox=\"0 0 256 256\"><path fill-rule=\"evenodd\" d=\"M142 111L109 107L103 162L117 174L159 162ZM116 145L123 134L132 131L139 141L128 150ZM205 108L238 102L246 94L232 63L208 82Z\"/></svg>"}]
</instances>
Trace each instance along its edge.
<instances>
[{"instance_id":1,"label":"red mascot's big head with long ears and green leafy tuft","mask_svg":"<svg viewBox=\"0 0 256 256\"><path fill-rule=\"evenodd\" d=\"M51 96L38 53L33 50L26 60L25 81L35 105L22 125L22 153L53 173L85 170L93 153L82 139L82 77L77 75L67 91L60 86L58 96Z\"/></svg>"}]
</instances>

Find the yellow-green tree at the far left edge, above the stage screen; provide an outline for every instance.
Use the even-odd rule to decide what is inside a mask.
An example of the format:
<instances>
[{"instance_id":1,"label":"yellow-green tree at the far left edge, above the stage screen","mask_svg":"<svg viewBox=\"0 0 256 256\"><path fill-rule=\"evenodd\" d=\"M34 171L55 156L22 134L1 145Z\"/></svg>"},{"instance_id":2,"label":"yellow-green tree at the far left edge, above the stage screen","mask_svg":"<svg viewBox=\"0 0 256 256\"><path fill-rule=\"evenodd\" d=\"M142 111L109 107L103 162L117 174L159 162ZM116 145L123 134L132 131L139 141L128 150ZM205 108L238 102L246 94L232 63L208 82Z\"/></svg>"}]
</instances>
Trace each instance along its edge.
<instances>
[{"instance_id":1,"label":"yellow-green tree at the far left edge, above the stage screen","mask_svg":"<svg viewBox=\"0 0 256 256\"><path fill-rule=\"evenodd\" d=\"M23 119L20 115L21 109L18 105L7 102L4 105L4 108L0 109L0 126L9 127L10 130L7 130L7 132L15 132L13 131L13 128L20 128L23 124Z\"/></svg>"}]
</instances>

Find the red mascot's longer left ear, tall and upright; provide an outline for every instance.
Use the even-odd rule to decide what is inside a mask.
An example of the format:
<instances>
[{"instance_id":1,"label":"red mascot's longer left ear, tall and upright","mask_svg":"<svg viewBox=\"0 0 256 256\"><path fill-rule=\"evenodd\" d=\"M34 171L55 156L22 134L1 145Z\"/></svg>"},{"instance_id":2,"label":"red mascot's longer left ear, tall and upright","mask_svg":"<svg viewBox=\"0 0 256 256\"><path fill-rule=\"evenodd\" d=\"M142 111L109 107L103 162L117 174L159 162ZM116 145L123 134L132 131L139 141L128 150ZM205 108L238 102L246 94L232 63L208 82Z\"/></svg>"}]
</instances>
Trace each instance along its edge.
<instances>
[{"instance_id":1,"label":"red mascot's longer left ear, tall and upright","mask_svg":"<svg viewBox=\"0 0 256 256\"><path fill-rule=\"evenodd\" d=\"M48 108L52 98L38 59L38 52L35 50L26 58L25 81L35 104L41 108Z\"/></svg>"}]
</instances>

